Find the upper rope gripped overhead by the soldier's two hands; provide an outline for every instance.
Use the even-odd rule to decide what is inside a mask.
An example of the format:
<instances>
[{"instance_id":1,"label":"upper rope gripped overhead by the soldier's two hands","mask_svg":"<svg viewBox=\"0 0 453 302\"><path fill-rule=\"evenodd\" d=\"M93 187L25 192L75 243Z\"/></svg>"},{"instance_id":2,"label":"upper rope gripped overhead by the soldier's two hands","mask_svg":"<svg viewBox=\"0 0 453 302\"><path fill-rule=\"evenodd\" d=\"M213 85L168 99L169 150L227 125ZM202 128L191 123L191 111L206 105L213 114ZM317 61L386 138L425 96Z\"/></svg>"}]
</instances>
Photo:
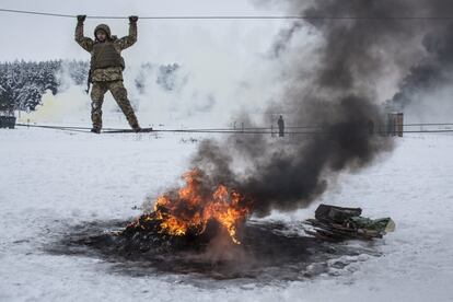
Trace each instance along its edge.
<instances>
[{"instance_id":1,"label":"upper rope gripped overhead by the soldier's two hands","mask_svg":"<svg viewBox=\"0 0 453 302\"><path fill-rule=\"evenodd\" d=\"M22 11L0 9L0 12L34 14L57 18L76 18L72 14L49 13L38 11ZM86 19L128 19L128 16L107 16L107 15L88 15ZM394 16L352 16L352 15L152 15L140 16L140 20L358 20L358 21L414 21L414 20L432 20L432 21L449 21L453 16L428 16L428 15L394 15Z\"/></svg>"}]
</instances>

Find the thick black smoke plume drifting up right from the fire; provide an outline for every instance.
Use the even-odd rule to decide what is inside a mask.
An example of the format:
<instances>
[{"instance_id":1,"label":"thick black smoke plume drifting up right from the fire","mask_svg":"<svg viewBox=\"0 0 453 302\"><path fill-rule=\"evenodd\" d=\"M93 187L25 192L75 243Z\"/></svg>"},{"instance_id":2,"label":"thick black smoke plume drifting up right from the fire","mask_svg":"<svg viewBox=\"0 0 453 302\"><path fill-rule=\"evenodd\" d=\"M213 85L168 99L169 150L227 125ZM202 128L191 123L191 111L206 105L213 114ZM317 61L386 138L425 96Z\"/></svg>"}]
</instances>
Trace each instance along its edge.
<instances>
[{"instance_id":1,"label":"thick black smoke plume drifting up right from the fire","mask_svg":"<svg viewBox=\"0 0 453 302\"><path fill-rule=\"evenodd\" d=\"M286 83L290 84L281 102L272 104L269 111L291 113L286 116L287 125L316 126L310 130L315 133L302 129L306 133L283 140L234 135L224 141L204 141L194 156L191 164L205 172L207 187L222 183L249 195L258 216L266 216L272 209L289 211L305 207L340 172L365 167L383 151L392 150L392 141L375 133L384 125L381 109L384 100L379 97L378 83L386 80L387 67L403 74L409 69L402 86L414 83L422 88L442 78L439 65L450 66L453 55L449 22L397 18L439 15L444 7L453 7L453 2L283 2L290 15L361 19L307 19L302 24L293 23L274 45L274 59L291 56L295 68L286 73L289 77ZM316 63L309 71L305 68L309 59L287 54L284 47L304 27L314 30L321 40L310 59L311 66L313 58ZM427 63L417 66L416 59L425 55L417 50L421 45L431 54L428 70Z\"/></svg>"}]
</instances>

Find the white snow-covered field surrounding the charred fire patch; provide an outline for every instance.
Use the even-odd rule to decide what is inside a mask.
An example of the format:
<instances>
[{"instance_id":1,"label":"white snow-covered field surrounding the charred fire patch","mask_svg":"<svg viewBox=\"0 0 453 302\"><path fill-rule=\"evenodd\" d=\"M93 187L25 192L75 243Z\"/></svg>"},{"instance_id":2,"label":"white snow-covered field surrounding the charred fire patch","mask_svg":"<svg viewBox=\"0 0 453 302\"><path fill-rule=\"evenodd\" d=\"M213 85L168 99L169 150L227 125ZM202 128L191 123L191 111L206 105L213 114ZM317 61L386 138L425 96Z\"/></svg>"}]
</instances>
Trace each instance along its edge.
<instances>
[{"instance_id":1,"label":"white snow-covered field surrounding the charred fire patch","mask_svg":"<svg viewBox=\"0 0 453 302\"><path fill-rule=\"evenodd\" d=\"M376 242L382 256L348 256L313 279L199 287L43 248L67 225L139 214L133 206L187 167L196 143L183 138L0 129L0 301L453 301L453 136L397 139L382 161L338 179L318 202L390 216L396 231ZM267 219L294 225L317 205Z\"/></svg>"}]
</instances>

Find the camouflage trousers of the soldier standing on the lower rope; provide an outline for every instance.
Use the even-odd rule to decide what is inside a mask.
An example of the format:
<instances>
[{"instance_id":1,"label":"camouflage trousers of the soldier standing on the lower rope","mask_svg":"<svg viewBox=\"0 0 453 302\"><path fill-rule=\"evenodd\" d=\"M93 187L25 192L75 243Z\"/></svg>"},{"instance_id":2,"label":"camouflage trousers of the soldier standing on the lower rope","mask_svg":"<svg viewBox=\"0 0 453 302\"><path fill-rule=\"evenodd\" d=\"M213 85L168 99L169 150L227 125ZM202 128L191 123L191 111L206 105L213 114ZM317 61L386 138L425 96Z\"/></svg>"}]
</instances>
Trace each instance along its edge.
<instances>
[{"instance_id":1,"label":"camouflage trousers of the soldier standing on the lower rope","mask_svg":"<svg viewBox=\"0 0 453 302\"><path fill-rule=\"evenodd\" d=\"M102 128L102 104L104 103L104 94L111 91L113 97L125 114L127 121L131 128L138 128L138 121L132 106L127 98L127 90L125 89L123 81L106 81L106 82L93 82L91 90L91 120L93 121L93 128Z\"/></svg>"}]
</instances>

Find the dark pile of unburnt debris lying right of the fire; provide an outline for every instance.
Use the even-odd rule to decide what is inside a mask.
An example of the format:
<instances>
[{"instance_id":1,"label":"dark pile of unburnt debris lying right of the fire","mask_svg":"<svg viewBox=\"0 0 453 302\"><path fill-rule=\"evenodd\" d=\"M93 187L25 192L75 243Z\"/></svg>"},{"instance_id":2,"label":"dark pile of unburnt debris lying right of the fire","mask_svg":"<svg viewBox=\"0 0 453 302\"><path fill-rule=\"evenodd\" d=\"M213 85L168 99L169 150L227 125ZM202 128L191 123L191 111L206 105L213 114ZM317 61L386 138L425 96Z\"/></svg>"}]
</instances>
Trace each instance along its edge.
<instances>
[{"instance_id":1,"label":"dark pile of unburnt debris lying right of the fire","mask_svg":"<svg viewBox=\"0 0 453 302\"><path fill-rule=\"evenodd\" d=\"M391 218L372 220L361 217L361 213L360 208L320 205L315 211L315 219L305 221L314 226L314 230L305 230L305 233L322 240L344 241L382 239L395 230L395 222Z\"/></svg>"}]
</instances>

